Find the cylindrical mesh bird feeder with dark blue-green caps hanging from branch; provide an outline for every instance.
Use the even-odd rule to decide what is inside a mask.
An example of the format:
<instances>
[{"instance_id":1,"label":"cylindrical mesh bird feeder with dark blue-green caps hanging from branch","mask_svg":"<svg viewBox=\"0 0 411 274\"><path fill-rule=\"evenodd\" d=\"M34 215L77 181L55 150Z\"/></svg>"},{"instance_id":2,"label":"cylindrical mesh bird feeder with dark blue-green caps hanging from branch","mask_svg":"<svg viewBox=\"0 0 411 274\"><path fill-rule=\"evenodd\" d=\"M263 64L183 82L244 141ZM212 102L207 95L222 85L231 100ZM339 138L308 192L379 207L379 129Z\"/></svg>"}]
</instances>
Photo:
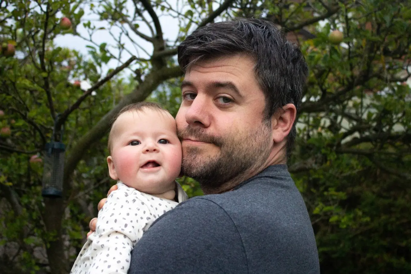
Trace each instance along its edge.
<instances>
[{"instance_id":1,"label":"cylindrical mesh bird feeder with dark blue-green caps hanging from branch","mask_svg":"<svg viewBox=\"0 0 411 274\"><path fill-rule=\"evenodd\" d=\"M65 145L60 142L46 144L43 157L42 196L49 198L62 197L64 174Z\"/></svg>"}]
</instances>

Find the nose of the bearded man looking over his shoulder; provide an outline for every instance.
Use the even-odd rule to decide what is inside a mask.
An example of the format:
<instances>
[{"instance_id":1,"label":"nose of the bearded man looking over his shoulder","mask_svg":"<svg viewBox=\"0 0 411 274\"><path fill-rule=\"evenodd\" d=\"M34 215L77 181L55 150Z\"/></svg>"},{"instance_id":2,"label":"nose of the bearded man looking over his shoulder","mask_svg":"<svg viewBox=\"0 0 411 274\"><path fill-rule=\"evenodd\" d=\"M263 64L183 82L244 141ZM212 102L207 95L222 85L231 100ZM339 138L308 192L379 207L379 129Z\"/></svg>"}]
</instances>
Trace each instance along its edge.
<instances>
[{"instance_id":1,"label":"nose of the bearded man looking over his shoulder","mask_svg":"<svg viewBox=\"0 0 411 274\"><path fill-rule=\"evenodd\" d=\"M185 113L187 124L201 127L210 126L210 102L208 100L206 96L196 96Z\"/></svg>"}]
</instances>

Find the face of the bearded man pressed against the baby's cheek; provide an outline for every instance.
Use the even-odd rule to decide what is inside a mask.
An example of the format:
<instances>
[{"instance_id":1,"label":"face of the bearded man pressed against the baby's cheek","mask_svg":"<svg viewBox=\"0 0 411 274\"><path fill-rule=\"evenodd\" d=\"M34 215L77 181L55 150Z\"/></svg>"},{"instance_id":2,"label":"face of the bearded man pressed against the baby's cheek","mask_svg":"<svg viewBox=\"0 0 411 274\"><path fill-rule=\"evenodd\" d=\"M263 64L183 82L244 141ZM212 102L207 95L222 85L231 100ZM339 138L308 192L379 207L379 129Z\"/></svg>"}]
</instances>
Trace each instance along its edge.
<instances>
[{"instance_id":1,"label":"face of the bearded man pressed against the baby's cheek","mask_svg":"<svg viewBox=\"0 0 411 274\"><path fill-rule=\"evenodd\" d=\"M236 55L199 62L185 74L176 116L182 172L205 192L251 177L270 154L272 131L253 66Z\"/></svg>"}]
</instances>

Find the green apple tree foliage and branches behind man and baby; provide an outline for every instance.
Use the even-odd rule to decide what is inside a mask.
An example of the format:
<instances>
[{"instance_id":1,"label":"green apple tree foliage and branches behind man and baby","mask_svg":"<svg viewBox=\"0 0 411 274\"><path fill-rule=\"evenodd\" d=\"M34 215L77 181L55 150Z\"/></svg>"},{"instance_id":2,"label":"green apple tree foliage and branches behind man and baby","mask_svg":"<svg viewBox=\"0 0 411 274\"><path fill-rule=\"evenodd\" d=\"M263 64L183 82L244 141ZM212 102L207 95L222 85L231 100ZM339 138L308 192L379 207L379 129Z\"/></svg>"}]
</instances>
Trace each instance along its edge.
<instances>
[{"instance_id":1,"label":"green apple tree foliage and branches behind man and baby","mask_svg":"<svg viewBox=\"0 0 411 274\"><path fill-rule=\"evenodd\" d=\"M173 39L164 16L178 25ZM235 16L275 22L309 64L289 170L321 272L411 273L411 5L399 0L0 0L0 41L16 47L0 56L0 128L10 129L0 135L0 273L69 272L114 184L109 121L145 99L175 115L176 45ZM337 29L344 40L332 44ZM88 53L58 46L63 36L87 41ZM55 121L54 138L67 145L60 199L41 196L43 163L33 158L42 159ZM201 195L192 179L180 182Z\"/></svg>"}]
</instances>

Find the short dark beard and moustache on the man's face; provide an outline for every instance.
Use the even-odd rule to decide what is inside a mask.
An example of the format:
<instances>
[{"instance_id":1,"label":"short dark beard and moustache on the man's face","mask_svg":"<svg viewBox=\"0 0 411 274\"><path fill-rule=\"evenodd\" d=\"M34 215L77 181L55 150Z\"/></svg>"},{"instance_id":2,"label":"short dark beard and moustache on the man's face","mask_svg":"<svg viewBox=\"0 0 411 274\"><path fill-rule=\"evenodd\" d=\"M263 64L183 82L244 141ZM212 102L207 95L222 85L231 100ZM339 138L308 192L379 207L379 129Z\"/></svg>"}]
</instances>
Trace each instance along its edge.
<instances>
[{"instance_id":1,"label":"short dark beard and moustache on the man's face","mask_svg":"<svg viewBox=\"0 0 411 274\"><path fill-rule=\"evenodd\" d=\"M263 167L270 154L270 128L271 125L263 122L255 132L238 131L222 137L210 136L199 127L178 130L180 139L193 138L219 147L219 152L212 156L201 155L207 153L204 147L183 148L182 173L210 193L224 189L224 184L248 179L252 172Z\"/></svg>"}]
</instances>

